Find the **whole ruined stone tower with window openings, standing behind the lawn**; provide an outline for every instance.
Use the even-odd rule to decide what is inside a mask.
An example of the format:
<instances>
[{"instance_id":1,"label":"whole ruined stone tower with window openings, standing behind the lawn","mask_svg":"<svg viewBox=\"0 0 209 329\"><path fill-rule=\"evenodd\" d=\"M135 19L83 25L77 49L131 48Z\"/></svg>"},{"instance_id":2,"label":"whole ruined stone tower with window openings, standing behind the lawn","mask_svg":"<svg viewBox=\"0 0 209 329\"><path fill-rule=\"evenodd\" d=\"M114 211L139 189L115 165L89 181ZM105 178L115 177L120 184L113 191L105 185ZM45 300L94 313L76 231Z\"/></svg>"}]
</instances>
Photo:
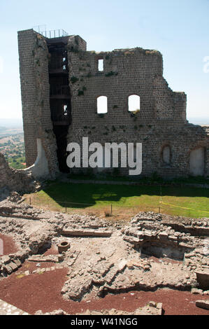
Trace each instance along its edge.
<instances>
[{"instance_id":1,"label":"whole ruined stone tower with window openings, standing behind the lawn","mask_svg":"<svg viewBox=\"0 0 209 329\"><path fill-rule=\"evenodd\" d=\"M18 32L18 45L26 162L34 176L68 172L66 146L81 144L82 137L142 143L141 176L209 175L208 128L187 122L186 95L168 87L160 52L96 53L80 36L33 29ZM133 95L140 101L137 111L129 109ZM127 175L128 168L119 173Z\"/></svg>"}]
</instances>

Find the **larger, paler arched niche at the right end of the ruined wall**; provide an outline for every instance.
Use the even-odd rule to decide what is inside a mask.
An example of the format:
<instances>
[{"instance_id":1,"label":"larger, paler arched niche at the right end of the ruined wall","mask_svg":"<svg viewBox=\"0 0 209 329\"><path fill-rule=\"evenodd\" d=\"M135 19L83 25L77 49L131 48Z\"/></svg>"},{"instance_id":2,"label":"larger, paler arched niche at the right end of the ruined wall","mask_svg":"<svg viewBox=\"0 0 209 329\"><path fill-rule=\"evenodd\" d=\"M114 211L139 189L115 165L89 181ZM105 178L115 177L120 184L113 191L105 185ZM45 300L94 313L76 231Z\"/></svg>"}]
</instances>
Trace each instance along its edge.
<instances>
[{"instance_id":1,"label":"larger, paler arched niche at the right end of the ruined wall","mask_svg":"<svg viewBox=\"0 0 209 329\"><path fill-rule=\"evenodd\" d=\"M189 174L203 176L205 172L205 148L195 148L189 155Z\"/></svg>"}]
</instances>

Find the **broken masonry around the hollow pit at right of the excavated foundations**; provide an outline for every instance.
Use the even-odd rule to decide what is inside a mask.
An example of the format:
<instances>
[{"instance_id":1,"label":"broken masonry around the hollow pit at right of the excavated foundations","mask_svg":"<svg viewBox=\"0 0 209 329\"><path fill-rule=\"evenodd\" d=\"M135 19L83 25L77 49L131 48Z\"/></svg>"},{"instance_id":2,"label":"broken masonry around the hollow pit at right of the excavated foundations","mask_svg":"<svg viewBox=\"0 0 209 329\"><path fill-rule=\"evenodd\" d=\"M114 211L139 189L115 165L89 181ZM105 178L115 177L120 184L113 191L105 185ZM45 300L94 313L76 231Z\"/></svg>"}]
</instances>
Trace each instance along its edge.
<instances>
[{"instance_id":1,"label":"broken masonry around the hollow pit at right of the excavated foundations","mask_svg":"<svg viewBox=\"0 0 209 329\"><path fill-rule=\"evenodd\" d=\"M165 217L168 219L168 216ZM168 223L164 223L163 218L164 215L156 214L154 221L153 213L148 213L147 218L144 213L136 215L123 230L124 240L134 244L140 253L154 255L158 258L168 257L183 260L189 271L208 268L209 221L203 218L206 235L196 237L194 224L199 223L200 225L200 221L194 221L191 225L194 230L194 235L192 235L192 231L191 233L176 231L172 225L168 226ZM175 223L173 223L174 226Z\"/></svg>"}]
</instances>

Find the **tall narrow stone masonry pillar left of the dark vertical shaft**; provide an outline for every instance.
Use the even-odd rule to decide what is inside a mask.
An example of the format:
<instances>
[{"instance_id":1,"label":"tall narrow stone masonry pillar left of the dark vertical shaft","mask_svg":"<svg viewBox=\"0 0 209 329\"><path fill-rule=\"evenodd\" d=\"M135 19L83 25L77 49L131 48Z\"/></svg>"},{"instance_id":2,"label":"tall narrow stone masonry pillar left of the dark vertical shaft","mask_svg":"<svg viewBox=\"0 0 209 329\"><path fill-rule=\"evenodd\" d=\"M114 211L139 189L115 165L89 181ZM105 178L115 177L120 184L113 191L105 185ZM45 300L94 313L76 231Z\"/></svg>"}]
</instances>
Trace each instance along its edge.
<instances>
[{"instance_id":1,"label":"tall narrow stone masonry pillar left of the dark vertical shaft","mask_svg":"<svg viewBox=\"0 0 209 329\"><path fill-rule=\"evenodd\" d=\"M27 167L37 157L38 138L48 158L51 176L57 169L57 145L50 118L50 85L48 61L50 59L45 38L33 29L18 32L22 116Z\"/></svg>"}]
</instances>

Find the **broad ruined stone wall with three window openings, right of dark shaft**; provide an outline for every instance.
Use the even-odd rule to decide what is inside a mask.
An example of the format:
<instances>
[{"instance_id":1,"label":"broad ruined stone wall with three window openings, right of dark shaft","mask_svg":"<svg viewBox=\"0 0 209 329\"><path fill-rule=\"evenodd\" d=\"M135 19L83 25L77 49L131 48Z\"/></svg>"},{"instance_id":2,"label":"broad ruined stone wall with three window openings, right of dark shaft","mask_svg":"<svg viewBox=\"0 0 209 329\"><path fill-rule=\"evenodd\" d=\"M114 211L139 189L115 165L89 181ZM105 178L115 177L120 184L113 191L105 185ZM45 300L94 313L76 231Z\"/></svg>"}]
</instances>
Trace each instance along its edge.
<instances>
[{"instance_id":1,"label":"broad ruined stone wall with three window openings, right of dark shaft","mask_svg":"<svg viewBox=\"0 0 209 329\"><path fill-rule=\"evenodd\" d=\"M98 71L101 58L103 72ZM81 144L82 137L88 137L89 144L141 142L142 176L154 172L161 176L187 176L190 152L199 147L208 150L207 129L187 123L186 94L173 92L162 76L160 52L141 48L99 54L69 51L69 71L72 104L69 142ZM128 111L131 94L140 96L140 112L136 115ZM108 113L103 116L96 109L99 96L108 97ZM162 160L164 146L171 148L170 165ZM207 151L206 175L208 163ZM120 172L127 175L128 170L122 168Z\"/></svg>"}]
</instances>

